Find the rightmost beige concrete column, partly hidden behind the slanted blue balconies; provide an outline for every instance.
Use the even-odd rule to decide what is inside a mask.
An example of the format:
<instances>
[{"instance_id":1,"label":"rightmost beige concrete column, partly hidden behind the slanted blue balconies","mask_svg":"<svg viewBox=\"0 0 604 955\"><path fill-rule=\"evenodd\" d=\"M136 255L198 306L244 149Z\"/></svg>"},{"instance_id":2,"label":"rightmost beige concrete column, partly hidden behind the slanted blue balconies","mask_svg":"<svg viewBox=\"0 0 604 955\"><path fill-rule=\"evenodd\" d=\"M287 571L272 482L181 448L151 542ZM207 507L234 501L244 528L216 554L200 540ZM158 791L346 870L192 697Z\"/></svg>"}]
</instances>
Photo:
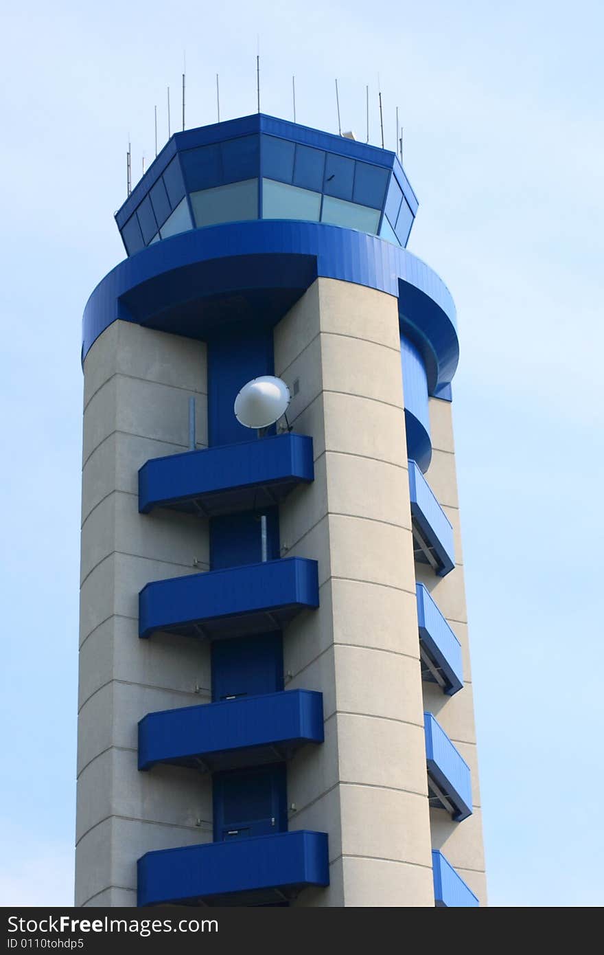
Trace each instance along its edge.
<instances>
[{"instance_id":1,"label":"rightmost beige concrete column, partly hidden behind the slanted blue balconies","mask_svg":"<svg viewBox=\"0 0 604 955\"><path fill-rule=\"evenodd\" d=\"M431 570L418 564L417 577L438 605L448 624L457 634L464 659L464 689L454 696L446 696L437 686L424 684L425 709L434 713L439 723L462 754L471 770L472 815L463 822L453 822L444 810L430 810L433 848L441 849L451 865L478 896L481 905L487 904L487 881L483 848L478 759L469 666L468 616L464 585L464 565L457 497L455 447L449 401L429 399L432 460L427 470L427 481L453 527L455 540L455 569L447 577L436 577Z\"/></svg>"}]
</instances>

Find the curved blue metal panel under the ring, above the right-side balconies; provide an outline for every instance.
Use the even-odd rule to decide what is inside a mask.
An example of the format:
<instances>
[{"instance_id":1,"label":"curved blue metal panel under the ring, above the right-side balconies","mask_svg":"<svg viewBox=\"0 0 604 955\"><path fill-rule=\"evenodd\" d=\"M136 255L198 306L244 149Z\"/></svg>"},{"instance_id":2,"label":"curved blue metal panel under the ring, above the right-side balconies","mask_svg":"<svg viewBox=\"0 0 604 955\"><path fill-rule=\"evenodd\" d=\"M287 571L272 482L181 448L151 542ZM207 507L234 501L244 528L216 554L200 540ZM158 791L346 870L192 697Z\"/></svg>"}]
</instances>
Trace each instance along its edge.
<instances>
[{"instance_id":1,"label":"curved blue metal panel under the ring, above the right-side balconies","mask_svg":"<svg viewBox=\"0 0 604 955\"><path fill-rule=\"evenodd\" d=\"M405 396L406 455L427 471L432 456L427 404L426 366L420 352L401 335L401 364Z\"/></svg>"}]
</instances>

